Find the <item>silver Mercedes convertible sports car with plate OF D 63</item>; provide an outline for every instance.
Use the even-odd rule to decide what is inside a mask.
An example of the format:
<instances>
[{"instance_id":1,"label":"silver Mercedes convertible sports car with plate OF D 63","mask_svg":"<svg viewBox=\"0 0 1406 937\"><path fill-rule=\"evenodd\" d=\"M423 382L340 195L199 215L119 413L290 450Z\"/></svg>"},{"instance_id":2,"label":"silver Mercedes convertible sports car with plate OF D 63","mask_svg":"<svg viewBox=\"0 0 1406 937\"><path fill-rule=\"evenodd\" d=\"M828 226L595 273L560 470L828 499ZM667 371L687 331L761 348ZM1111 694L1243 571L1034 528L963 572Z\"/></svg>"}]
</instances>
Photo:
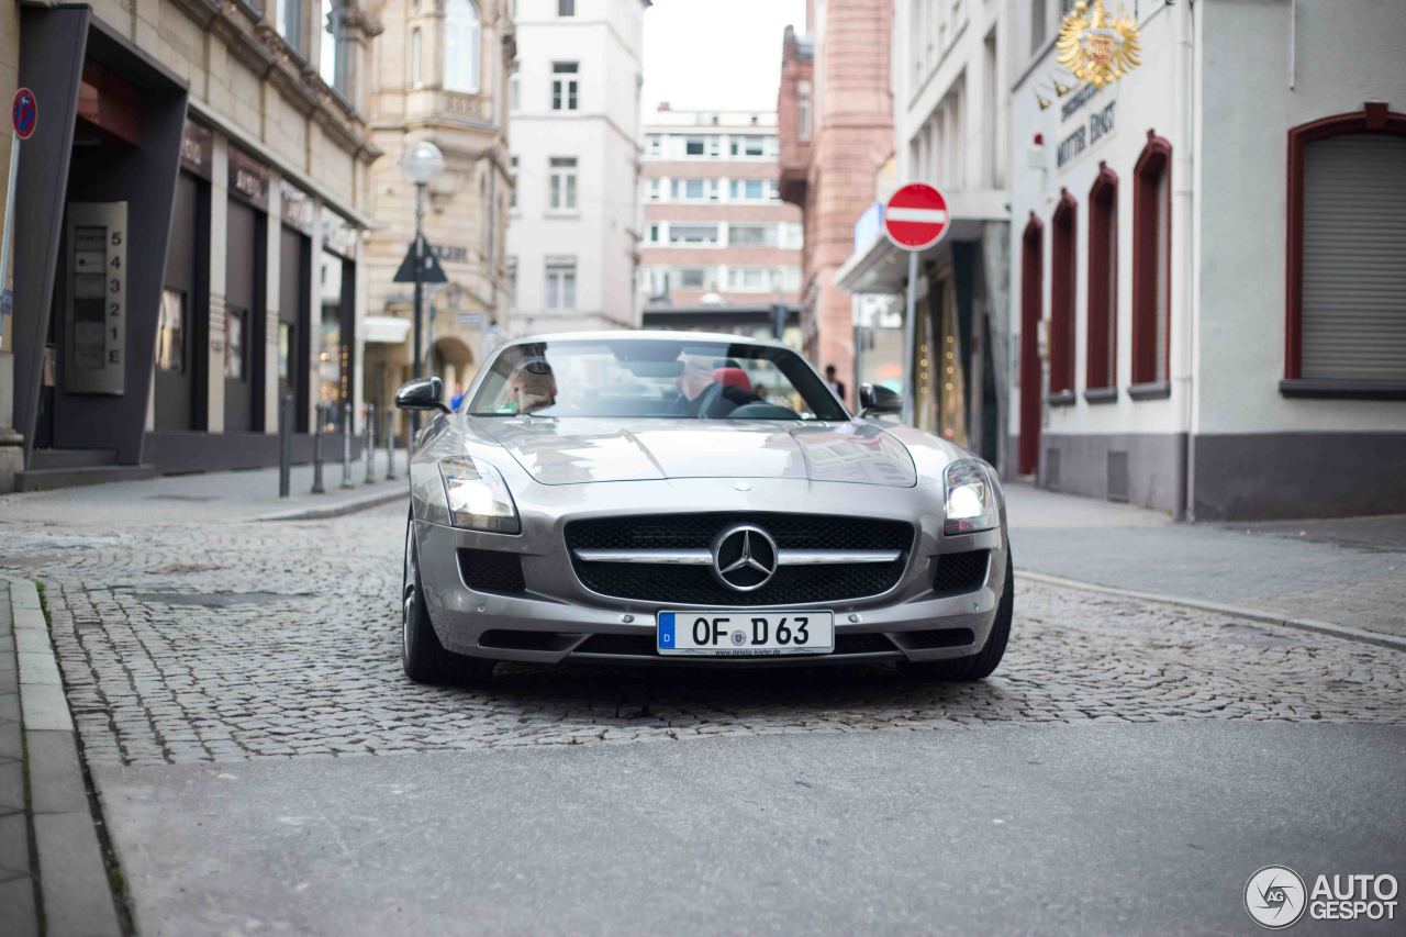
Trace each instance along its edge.
<instances>
[{"instance_id":1,"label":"silver Mercedes convertible sports car with plate OF D 63","mask_svg":"<svg viewBox=\"0 0 1406 937\"><path fill-rule=\"evenodd\" d=\"M894 661L979 680L1001 660L1014 577L995 473L851 416L773 342L693 332L536 336L501 348L415 440L405 673L496 661Z\"/></svg>"}]
</instances>

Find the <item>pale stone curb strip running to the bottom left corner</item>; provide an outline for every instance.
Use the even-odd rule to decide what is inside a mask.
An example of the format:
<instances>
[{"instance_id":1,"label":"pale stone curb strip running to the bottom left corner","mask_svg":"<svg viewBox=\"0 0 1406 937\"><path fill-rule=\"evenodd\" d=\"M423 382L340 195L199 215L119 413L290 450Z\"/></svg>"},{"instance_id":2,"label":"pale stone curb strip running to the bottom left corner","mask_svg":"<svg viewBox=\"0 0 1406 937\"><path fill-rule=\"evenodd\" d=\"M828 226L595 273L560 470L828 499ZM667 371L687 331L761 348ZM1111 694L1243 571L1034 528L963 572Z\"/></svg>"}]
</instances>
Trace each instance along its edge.
<instances>
[{"instance_id":1,"label":"pale stone curb strip running to the bottom left corner","mask_svg":"<svg viewBox=\"0 0 1406 937\"><path fill-rule=\"evenodd\" d=\"M79 763L77 733L39 592L34 582L6 578L0 578L0 588L8 588L14 618L30 822L38 848L45 933L121 937Z\"/></svg>"}]
</instances>

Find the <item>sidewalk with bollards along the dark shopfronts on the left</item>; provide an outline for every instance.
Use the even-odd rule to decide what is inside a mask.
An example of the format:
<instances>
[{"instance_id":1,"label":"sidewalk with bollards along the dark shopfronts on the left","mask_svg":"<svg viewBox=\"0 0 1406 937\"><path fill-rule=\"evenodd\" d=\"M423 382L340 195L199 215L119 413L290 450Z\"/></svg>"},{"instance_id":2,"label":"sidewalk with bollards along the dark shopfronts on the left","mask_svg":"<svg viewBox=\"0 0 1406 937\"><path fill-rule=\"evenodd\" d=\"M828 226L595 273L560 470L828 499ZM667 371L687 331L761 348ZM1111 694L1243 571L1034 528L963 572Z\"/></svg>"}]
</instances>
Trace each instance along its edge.
<instances>
[{"instance_id":1,"label":"sidewalk with bollards along the dark shopfronts on the left","mask_svg":"<svg viewBox=\"0 0 1406 937\"><path fill-rule=\"evenodd\" d=\"M312 466L294 466L290 497L278 497L278 468L211 471L165 476L142 481L0 495L0 525L41 522L65 526L142 525L167 521L274 521L314 519L357 511L402 498L405 450L395 452L395 480L385 478L385 450L373 461L373 483L366 481L366 461L350 466L350 488L342 487L342 463L322 466L325 494L311 494Z\"/></svg>"}]
</instances>

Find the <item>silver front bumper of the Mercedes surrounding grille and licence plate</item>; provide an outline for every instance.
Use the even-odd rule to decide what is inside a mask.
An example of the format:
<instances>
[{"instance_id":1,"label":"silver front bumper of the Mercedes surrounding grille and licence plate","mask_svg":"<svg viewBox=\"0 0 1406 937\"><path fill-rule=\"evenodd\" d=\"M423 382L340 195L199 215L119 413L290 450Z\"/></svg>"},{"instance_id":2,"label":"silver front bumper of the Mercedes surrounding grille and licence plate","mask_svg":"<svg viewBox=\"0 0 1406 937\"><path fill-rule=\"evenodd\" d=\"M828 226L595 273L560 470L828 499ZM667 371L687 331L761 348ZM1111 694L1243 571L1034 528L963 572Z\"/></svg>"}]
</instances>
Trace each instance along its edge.
<instances>
[{"instance_id":1,"label":"silver front bumper of the Mercedes surrounding grille and licence plate","mask_svg":"<svg viewBox=\"0 0 1406 937\"><path fill-rule=\"evenodd\" d=\"M756 509L751 498L725 502L721 485L699 480L688 487L706 488L707 498L678 495L679 483L627 483L612 485L614 495L626 495L624 512L678 512L679 504L706 504L709 511ZM825 514L828 498L818 497L814 485L779 485L766 499L769 509L800 514ZM853 485L846 485L853 488ZM630 488L627 494L621 488ZM479 533L416 521L420 584L434 632L451 651L496 660L560 664L569 661L650 663L688 665L776 665L858 661L925 661L966 657L977 653L995 620L997 605L1005 585L1007 542L1004 523L994 530L945 536L936 514L912 516L912 490L879 490L875 504L866 505L868 516L889 516L915 522L918 535L900 581L887 592L862 599L835 602L786 604L785 609L825 609L835 613L835 651L820 656L787 657L679 657L654 651L655 615L661 609L718 609L720 605L651 602L600 595L586 589L576 578L567 556L562 526L578 516L619 514L616 505L603 511L523 508L523 533L505 536ZM905 495L905 497L904 497ZM831 514L835 514L831 511ZM508 550L517 553L527 591L502 595L470 588L461 574L458 550ZM980 587L959 595L934 591L934 563L943 553L988 550L990 561ZM737 608L738 612L761 606Z\"/></svg>"}]
</instances>

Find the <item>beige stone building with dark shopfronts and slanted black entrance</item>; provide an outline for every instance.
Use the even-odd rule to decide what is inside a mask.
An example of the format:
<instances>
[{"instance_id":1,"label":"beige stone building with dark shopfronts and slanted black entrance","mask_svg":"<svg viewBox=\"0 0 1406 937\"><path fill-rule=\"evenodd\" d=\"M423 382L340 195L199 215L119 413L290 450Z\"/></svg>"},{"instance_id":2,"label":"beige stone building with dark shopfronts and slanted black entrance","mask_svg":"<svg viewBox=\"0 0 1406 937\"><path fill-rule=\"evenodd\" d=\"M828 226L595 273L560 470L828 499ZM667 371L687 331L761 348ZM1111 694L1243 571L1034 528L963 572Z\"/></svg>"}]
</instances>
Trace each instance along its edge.
<instances>
[{"instance_id":1,"label":"beige stone building with dark shopfronts and slanted black entrance","mask_svg":"<svg viewBox=\"0 0 1406 937\"><path fill-rule=\"evenodd\" d=\"M380 21L344 0L11 4L0 490L295 459L360 409ZM11 272L4 272L7 276Z\"/></svg>"}]
</instances>

